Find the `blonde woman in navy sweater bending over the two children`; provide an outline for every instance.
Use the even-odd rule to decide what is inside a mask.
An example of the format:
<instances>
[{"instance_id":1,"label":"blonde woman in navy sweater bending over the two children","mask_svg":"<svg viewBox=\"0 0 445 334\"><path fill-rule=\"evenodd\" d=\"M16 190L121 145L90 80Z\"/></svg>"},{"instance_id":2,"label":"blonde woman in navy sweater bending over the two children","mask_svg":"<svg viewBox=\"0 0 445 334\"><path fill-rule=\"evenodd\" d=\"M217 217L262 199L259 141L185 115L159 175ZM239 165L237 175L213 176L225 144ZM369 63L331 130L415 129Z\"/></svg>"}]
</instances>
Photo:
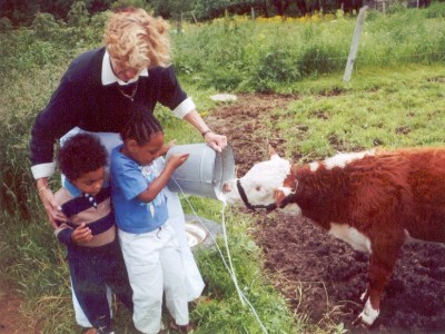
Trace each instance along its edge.
<instances>
[{"instance_id":1,"label":"blonde woman in navy sweater bending over the two children","mask_svg":"<svg viewBox=\"0 0 445 334\"><path fill-rule=\"evenodd\" d=\"M48 178L53 174L55 144L69 131L96 134L110 150L120 143L119 131L129 119L129 107L144 104L154 112L157 102L192 125L217 151L227 145L226 136L215 134L181 89L170 66L168 24L142 9L111 14L105 47L76 58L63 75L48 106L40 112L31 132L32 175L48 218L66 219L60 213ZM169 220L181 240L189 299L198 297L204 283L185 234L185 219L176 194L168 191Z\"/></svg>"}]
</instances>

